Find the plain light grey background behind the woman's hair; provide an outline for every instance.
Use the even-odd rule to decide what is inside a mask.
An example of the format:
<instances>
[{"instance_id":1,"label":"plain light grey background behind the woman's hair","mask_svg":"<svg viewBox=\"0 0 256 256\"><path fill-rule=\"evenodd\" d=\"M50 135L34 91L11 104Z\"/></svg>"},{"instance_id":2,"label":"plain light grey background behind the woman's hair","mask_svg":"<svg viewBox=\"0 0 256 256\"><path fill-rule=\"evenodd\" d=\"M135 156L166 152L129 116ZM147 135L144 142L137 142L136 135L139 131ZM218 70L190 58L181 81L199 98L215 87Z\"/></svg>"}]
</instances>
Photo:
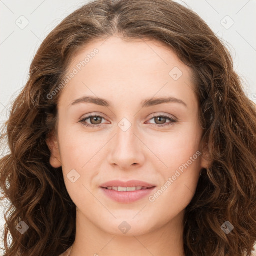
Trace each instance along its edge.
<instances>
[{"instance_id":1,"label":"plain light grey background behind the woman's hair","mask_svg":"<svg viewBox=\"0 0 256 256\"><path fill-rule=\"evenodd\" d=\"M256 0L176 1L201 16L228 47L235 70L244 81L246 94L256 102ZM43 39L63 18L86 2L0 0L1 123L8 117L10 100L25 85L29 65ZM2 210L0 207L1 232L4 225Z\"/></svg>"}]
</instances>

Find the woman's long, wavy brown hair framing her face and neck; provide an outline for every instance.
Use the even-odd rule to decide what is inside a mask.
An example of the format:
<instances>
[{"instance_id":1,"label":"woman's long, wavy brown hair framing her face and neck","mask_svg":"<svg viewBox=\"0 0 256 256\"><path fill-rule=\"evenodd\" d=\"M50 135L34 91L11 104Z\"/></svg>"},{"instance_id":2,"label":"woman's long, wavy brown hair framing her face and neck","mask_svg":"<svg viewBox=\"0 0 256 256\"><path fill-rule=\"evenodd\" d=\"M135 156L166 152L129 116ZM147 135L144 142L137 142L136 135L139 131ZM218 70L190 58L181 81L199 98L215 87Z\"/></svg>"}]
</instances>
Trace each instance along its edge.
<instances>
[{"instance_id":1,"label":"woman's long, wavy brown hair framing her face and neck","mask_svg":"<svg viewBox=\"0 0 256 256\"><path fill-rule=\"evenodd\" d=\"M5 256L56 255L75 239L75 204L61 167L49 164L49 134L56 132L55 93L72 57L88 43L118 34L163 42L192 71L202 141L211 162L185 208L186 256L252 255L256 241L256 109L244 93L230 53L192 10L171 0L96 0L64 18L44 39L29 78L13 100L0 141ZM48 95L54 95L49 98ZM206 154L205 154L206 155ZM24 221L28 230L16 226ZM221 225L229 221L226 234ZM11 236L12 241L8 241Z\"/></svg>"}]
</instances>

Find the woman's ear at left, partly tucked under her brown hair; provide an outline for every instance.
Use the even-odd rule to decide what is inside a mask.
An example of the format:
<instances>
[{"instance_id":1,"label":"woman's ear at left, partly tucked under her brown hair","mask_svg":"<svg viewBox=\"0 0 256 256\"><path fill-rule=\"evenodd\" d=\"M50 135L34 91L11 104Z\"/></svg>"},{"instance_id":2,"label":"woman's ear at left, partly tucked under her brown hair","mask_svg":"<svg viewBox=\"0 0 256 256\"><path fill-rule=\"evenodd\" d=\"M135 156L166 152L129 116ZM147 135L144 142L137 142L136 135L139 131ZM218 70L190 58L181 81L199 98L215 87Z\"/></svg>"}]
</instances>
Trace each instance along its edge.
<instances>
[{"instance_id":1,"label":"woman's ear at left, partly tucked under her brown hair","mask_svg":"<svg viewBox=\"0 0 256 256\"><path fill-rule=\"evenodd\" d=\"M50 165L53 168L61 167L61 158L59 153L58 141L55 135L50 134L46 139L46 144L50 150Z\"/></svg>"}]
</instances>

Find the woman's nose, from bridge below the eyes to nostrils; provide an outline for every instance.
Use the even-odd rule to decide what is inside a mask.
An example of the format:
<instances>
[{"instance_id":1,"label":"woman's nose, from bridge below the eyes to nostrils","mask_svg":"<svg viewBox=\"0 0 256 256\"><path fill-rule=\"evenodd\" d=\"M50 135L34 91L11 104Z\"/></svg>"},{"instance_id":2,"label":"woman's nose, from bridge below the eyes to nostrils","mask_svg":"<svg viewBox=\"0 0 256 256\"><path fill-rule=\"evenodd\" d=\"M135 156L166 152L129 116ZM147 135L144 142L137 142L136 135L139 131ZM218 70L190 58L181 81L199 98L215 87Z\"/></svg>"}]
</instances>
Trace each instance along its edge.
<instances>
[{"instance_id":1,"label":"woman's nose, from bridge below the eyes to nostrils","mask_svg":"<svg viewBox=\"0 0 256 256\"><path fill-rule=\"evenodd\" d=\"M138 138L134 125L124 131L117 126L116 135L112 138L108 162L121 169L130 169L143 165L145 145Z\"/></svg>"}]
</instances>

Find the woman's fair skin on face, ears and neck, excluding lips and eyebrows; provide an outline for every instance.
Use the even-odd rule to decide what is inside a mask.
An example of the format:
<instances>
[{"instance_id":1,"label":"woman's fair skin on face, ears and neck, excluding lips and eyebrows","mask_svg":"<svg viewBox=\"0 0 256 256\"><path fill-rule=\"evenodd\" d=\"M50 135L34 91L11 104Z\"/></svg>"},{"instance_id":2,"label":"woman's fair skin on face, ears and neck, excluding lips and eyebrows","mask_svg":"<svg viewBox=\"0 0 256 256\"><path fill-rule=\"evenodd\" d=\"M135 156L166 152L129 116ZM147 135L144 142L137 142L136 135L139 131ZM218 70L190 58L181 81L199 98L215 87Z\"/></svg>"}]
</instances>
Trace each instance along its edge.
<instances>
[{"instance_id":1,"label":"woman's fair skin on face, ears and neck, excluding lips and eyebrows","mask_svg":"<svg viewBox=\"0 0 256 256\"><path fill-rule=\"evenodd\" d=\"M57 135L47 140L50 164L62 166L67 191L76 205L71 256L183 255L184 209L194 195L200 170L208 167L202 155L153 202L146 196L118 203L99 187L113 179L137 179L156 185L154 194L199 151L202 128L192 71L159 41L112 35L87 44L67 73L94 48L99 53L62 89ZM183 73L177 80L169 75L173 67ZM70 106L85 95L104 98L112 107L88 102ZM141 108L144 99L166 96L181 99L187 107L168 102ZM88 118L84 123L95 125L101 120L100 127L79 122L89 113L104 118ZM161 127L170 120L153 118L153 114L177 121ZM131 123L127 131L118 126L124 117ZM74 183L67 177L72 169L80 175ZM123 221L131 227L126 234L118 228Z\"/></svg>"}]
</instances>

